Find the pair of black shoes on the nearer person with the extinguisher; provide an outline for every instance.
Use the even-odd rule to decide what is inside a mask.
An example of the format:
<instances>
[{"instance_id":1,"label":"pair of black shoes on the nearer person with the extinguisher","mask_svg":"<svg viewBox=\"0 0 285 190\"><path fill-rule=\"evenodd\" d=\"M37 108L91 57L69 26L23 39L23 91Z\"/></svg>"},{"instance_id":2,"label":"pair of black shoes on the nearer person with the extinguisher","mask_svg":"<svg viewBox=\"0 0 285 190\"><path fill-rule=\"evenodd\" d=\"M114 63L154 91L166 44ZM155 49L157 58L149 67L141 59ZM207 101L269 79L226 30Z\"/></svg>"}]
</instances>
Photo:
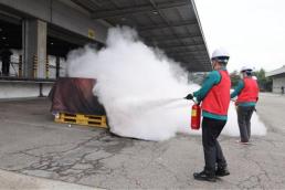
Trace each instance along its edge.
<instances>
[{"instance_id":1,"label":"pair of black shoes on the nearer person with the extinguisher","mask_svg":"<svg viewBox=\"0 0 285 190\"><path fill-rule=\"evenodd\" d=\"M208 172L205 170L201 172L194 172L193 177L196 180L215 182L217 177L224 177L229 175L230 175L230 171L225 167L225 168L218 168L214 173Z\"/></svg>"}]
</instances>

